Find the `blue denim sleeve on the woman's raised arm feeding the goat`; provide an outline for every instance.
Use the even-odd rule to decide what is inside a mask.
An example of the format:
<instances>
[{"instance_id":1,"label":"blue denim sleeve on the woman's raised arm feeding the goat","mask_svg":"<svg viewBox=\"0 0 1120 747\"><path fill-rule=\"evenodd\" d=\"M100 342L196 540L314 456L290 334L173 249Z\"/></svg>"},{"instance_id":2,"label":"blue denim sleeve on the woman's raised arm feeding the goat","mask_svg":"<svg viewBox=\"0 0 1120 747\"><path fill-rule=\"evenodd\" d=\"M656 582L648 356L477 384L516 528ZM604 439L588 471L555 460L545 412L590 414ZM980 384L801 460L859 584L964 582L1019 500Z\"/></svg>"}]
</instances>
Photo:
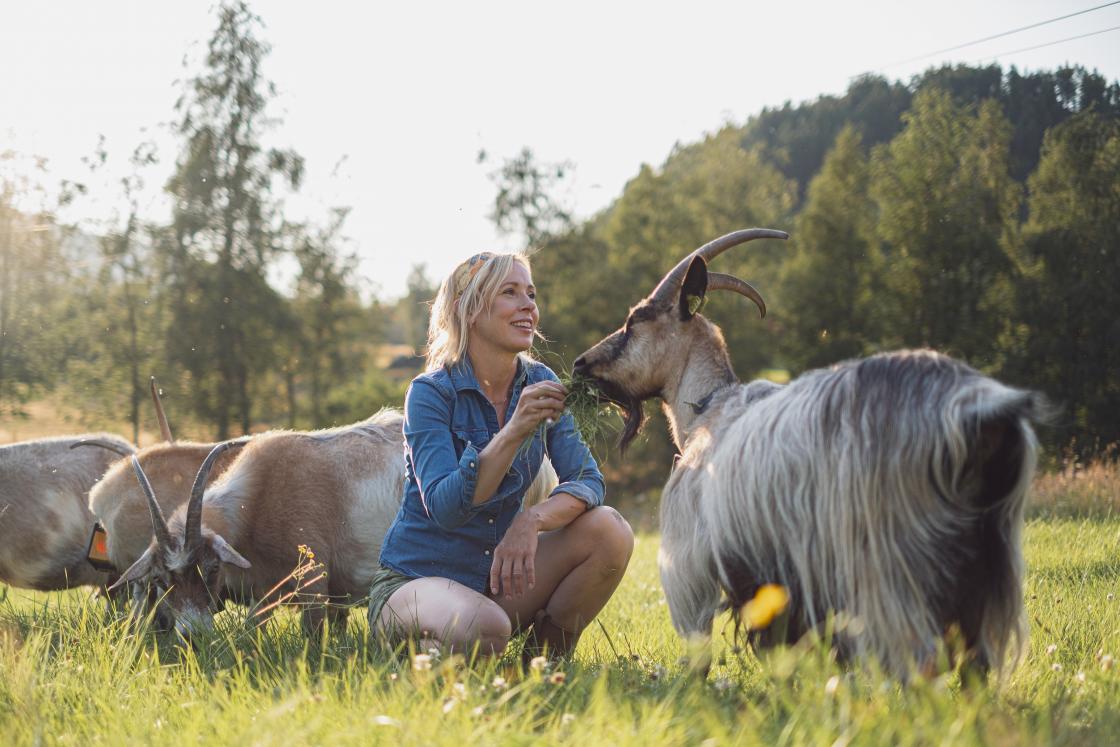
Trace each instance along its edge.
<instances>
[{"instance_id":1,"label":"blue denim sleeve on the woman's raised arm feeding the goat","mask_svg":"<svg viewBox=\"0 0 1120 747\"><path fill-rule=\"evenodd\" d=\"M417 380L404 396L404 443L428 516L442 529L461 526L475 513L478 449L456 457L451 405L435 384Z\"/></svg>"}]
</instances>

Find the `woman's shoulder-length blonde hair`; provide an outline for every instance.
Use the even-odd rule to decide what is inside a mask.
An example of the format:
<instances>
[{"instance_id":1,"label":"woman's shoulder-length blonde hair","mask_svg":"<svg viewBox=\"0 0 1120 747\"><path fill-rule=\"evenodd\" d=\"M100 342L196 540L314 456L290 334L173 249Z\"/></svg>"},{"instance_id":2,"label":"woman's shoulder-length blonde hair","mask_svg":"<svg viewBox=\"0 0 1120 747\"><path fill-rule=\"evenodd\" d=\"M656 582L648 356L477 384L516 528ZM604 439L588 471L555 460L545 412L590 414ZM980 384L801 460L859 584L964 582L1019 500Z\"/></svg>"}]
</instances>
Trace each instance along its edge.
<instances>
[{"instance_id":1,"label":"woman's shoulder-length blonde hair","mask_svg":"<svg viewBox=\"0 0 1120 747\"><path fill-rule=\"evenodd\" d=\"M514 263L530 270L524 254L475 254L444 279L428 319L427 371L463 360L470 324L489 310Z\"/></svg>"}]
</instances>

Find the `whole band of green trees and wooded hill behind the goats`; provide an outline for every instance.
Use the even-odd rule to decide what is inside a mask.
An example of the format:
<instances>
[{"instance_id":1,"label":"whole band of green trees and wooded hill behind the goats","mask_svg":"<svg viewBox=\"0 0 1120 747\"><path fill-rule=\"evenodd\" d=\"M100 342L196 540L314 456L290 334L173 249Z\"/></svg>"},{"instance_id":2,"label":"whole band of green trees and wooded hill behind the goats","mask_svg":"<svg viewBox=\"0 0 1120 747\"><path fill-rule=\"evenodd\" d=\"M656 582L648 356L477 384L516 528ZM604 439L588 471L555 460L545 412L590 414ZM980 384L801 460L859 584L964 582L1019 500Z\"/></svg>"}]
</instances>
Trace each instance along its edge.
<instances>
[{"instance_id":1,"label":"whole band of green trees and wooded hill behind the goats","mask_svg":"<svg viewBox=\"0 0 1120 747\"><path fill-rule=\"evenodd\" d=\"M62 393L92 421L127 414L134 438L152 373L217 438L400 404L417 360L383 346L419 351L435 283L418 267L405 297L365 298L347 208L283 218L305 164L263 144L274 87L260 20L241 2L217 20L175 111L166 221L141 218L159 157L147 143L95 234L59 217L87 186L48 196L34 161L0 155L0 410ZM784 245L718 260L771 310L709 300L740 377L931 346L1046 393L1061 407L1051 452L1084 457L1120 441L1118 114L1120 86L1079 67L867 76L676 146L586 221L554 197L572 167L525 149L493 172L492 217L533 254L539 354L557 367L699 244L784 228ZM111 158L99 149L91 170ZM625 461L596 448L624 494L660 485L672 460L657 422Z\"/></svg>"}]
</instances>

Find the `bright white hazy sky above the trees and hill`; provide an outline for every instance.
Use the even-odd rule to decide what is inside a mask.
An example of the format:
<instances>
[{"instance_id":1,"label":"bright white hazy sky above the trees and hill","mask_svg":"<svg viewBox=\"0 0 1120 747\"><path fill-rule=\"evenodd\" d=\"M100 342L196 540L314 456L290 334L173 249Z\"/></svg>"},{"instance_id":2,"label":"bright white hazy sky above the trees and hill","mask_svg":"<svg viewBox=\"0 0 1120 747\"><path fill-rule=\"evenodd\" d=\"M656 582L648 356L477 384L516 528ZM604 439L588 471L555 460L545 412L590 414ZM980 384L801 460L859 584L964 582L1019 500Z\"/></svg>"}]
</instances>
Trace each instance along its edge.
<instances>
[{"instance_id":1,"label":"bright white hazy sky above the trees and hill","mask_svg":"<svg viewBox=\"0 0 1120 747\"><path fill-rule=\"evenodd\" d=\"M944 63L1020 71L1081 64L1120 77L1120 3L963 49L897 64L1104 0L987 2L339 2L255 0L280 96L274 144L307 159L290 215L325 221L349 205L361 272L382 297L414 263L439 279L501 239L487 174L523 146L576 169L561 197L581 217L618 196L643 162L764 106L839 94L851 76L908 80ZM52 0L0 6L0 151L49 159L52 179L82 178L104 134L123 166L156 138L147 209L177 157L160 129L215 26L208 2ZM1010 54L1015 53L1015 54ZM197 58L197 57L196 57ZM491 162L479 165L480 149ZM337 168L336 168L337 167ZM83 208L108 217L111 189ZM728 226L734 228L737 226Z\"/></svg>"}]
</instances>

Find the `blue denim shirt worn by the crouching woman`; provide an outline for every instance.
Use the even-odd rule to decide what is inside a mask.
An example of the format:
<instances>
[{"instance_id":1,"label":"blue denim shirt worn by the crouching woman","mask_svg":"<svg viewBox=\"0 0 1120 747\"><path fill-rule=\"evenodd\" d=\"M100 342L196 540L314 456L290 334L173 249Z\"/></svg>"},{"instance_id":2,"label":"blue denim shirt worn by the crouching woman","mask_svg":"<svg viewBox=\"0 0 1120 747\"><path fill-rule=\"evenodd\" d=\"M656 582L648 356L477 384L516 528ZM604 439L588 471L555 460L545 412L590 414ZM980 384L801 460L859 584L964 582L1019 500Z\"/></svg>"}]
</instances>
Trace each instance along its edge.
<instances>
[{"instance_id":1,"label":"blue denim shirt worn by the crouching woman","mask_svg":"<svg viewBox=\"0 0 1120 747\"><path fill-rule=\"evenodd\" d=\"M506 422L522 390L541 381L557 381L557 375L519 357ZM564 412L543 437L540 429L533 432L494 495L473 505L478 454L497 431L497 413L469 358L412 380L404 398L404 501L382 544L382 566L416 578L449 578L486 594L494 548L521 511L545 455L560 478L551 495L603 504L603 474Z\"/></svg>"}]
</instances>

